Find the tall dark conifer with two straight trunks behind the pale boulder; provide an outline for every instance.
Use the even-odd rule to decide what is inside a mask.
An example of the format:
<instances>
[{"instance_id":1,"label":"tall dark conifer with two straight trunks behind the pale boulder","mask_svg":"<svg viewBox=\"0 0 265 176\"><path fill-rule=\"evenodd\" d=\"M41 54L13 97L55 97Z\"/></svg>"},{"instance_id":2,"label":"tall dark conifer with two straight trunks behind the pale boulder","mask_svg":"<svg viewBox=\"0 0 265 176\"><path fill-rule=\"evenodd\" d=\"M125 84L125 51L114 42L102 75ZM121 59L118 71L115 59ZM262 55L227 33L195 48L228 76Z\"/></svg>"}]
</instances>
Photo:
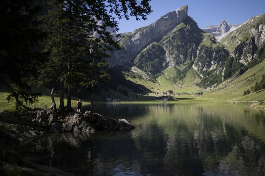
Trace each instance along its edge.
<instances>
[{"instance_id":1,"label":"tall dark conifer with two straight trunks behind the pale boulder","mask_svg":"<svg viewBox=\"0 0 265 176\"><path fill-rule=\"evenodd\" d=\"M84 55L87 34L85 33L85 4L80 1L48 0L48 14L41 16L42 26L47 33L43 42L44 52L49 53L49 63L44 70L51 76L50 82L60 83L60 105L64 110L64 92L67 89L66 111L71 111L71 89L79 79L80 57ZM55 78L55 79L54 79Z\"/></svg>"}]
</instances>

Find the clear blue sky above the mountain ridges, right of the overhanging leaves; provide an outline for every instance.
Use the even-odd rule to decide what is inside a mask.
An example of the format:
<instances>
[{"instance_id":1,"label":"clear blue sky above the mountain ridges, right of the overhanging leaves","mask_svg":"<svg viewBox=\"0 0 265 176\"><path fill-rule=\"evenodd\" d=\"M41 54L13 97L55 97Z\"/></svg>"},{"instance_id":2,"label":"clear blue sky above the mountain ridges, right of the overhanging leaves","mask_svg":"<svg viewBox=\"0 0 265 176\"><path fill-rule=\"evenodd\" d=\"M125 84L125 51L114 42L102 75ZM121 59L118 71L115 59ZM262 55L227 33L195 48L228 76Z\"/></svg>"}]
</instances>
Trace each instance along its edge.
<instances>
[{"instance_id":1,"label":"clear blue sky above the mountain ridges, right of the overhanging leaves","mask_svg":"<svg viewBox=\"0 0 265 176\"><path fill-rule=\"evenodd\" d=\"M188 5L188 16L191 16L199 28L220 23L226 15L226 21L231 25L241 24L249 18L265 13L265 0L151 0L153 12L148 20L119 20L119 32L132 32L137 28L147 26L170 11Z\"/></svg>"}]
</instances>

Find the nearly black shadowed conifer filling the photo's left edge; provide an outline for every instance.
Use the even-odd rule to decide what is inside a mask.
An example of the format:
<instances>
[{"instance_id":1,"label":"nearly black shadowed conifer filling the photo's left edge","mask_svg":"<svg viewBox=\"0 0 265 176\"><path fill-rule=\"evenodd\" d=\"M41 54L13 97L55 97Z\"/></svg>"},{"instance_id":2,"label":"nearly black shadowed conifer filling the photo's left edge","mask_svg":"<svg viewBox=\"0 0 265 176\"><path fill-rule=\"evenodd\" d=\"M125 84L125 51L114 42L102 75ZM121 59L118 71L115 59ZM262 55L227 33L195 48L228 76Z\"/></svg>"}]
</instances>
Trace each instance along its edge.
<instances>
[{"instance_id":1,"label":"nearly black shadowed conifer filling the photo's left edge","mask_svg":"<svg viewBox=\"0 0 265 176\"><path fill-rule=\"evenodd\" d=\"M37 28L39 10L33 0L1 1L0 82L10 89L6 99L14 100L17 110L40 96L31 93L29 84L30 78L37 78L35 64L42 58L34 51L44 36Z\"/></svg>"}]
</instances>

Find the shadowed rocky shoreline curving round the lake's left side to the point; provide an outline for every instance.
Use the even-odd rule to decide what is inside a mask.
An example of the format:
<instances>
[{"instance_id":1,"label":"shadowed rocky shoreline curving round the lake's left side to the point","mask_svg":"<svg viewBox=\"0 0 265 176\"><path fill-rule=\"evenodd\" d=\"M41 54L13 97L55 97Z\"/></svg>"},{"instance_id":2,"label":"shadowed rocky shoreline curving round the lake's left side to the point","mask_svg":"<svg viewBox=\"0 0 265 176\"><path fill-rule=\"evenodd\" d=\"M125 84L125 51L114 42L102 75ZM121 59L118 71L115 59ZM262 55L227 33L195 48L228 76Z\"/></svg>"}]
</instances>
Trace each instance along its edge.
<instances>
[{"instance_id":1,"label":"shadowed rocky shoreline curving round the lake's left side to the point","mask_svg":"<svg viewBox=\"0 0 265 176\"><path fill-rule=\"evenodd\" d=\"M115 120L94 113L90 116L72 111L62 117L59 112L34 108L23 114L0 112L0 173L4 175L72 175L58 168L35 164L16 153L22 141L47 133L96 131L131 131L135 127L125 119Z\"/></svg>"}]
</instances>

